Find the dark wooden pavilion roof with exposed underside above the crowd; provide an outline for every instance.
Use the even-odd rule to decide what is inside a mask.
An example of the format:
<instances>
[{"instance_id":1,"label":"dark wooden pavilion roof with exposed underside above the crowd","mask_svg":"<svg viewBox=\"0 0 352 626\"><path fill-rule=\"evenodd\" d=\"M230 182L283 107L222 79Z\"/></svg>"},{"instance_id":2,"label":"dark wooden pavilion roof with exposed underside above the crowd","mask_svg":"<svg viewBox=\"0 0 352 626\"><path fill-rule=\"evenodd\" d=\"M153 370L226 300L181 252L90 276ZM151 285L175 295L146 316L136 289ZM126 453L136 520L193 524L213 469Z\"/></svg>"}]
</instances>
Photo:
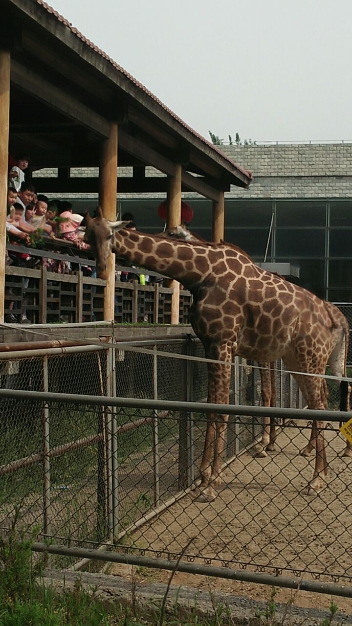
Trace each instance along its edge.
<instances>
[{"instance_id":1,"label":"dark wooden pavilion roof with exposed underside above the crowd","mask_svg":"<svg viewBox=\"0 0 352 626\"><path fill-rule=\"evenodd\" d=\"M215 200L230 185L249 185L250 172L187 126L48 4L1 4L0 46L11 49L10 150L27 152L33 169L59 168L58 178L45 179L46 191L97 190L96 179L70 179L68 168L98 166L110 121L118 122L118 164L133 167L133 177L119 180L123 193L165 191L167 179L145 178L145 165L173 175L176 163L182 163L184 190Z\"/></svg>"}]
</instances>

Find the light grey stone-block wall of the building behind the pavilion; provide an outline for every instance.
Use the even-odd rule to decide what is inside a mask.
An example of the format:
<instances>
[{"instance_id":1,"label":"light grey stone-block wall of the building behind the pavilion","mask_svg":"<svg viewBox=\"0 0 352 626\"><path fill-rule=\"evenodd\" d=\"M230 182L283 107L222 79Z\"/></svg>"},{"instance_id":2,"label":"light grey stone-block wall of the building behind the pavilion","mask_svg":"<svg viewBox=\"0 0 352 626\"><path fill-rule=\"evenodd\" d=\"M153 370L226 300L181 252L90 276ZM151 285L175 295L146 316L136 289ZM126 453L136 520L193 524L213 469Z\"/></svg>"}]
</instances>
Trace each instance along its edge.
<instances>
[{"instance_id":1,"label":"light grey stone-block wall of the building behind the pavilion","mask_svg":"<svg viewBox=\"0 0 352 626\"><path fill-rule=\"evenodd\" d=\"M352 198L352 143L222 146L225 155L247 170L254 180L249 189L231 187L227 198ZM36 176L56 176L40 170ZM95 177L97 168L73 168L71 176ZM132 168L118 168L118 176L132 176ZM152 167L146 176L163 176ZM54 197L56 194L51 194ZM185 198L198 197L184 193ZM165 194L123 194L123 198L164 197ZM96 197L73 193L72 198Z\"/></svg>"}]
</instances>

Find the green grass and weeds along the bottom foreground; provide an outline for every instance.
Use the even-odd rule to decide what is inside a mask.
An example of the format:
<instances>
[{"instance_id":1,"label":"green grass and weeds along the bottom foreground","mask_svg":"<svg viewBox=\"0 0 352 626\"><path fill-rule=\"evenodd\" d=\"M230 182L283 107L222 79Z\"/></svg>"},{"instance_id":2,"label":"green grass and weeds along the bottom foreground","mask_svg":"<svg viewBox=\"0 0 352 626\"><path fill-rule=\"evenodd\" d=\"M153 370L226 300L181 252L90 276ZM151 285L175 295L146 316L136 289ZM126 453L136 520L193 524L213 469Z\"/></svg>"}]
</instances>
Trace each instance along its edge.
<instances>
[{"instance_id":1,"label":"green grass and weeds along the bottom foreground","mask_svg":"<svg viewBox=\"0 0 352 626\"><path fill-rule=\"evenodd\" d=\"M127 608L104 604L98 597L98 589L83 588L79 578L71 588L65 586L63 578L63 591L58 593L52 585L48 587L43 583L46 555L34 554L31 550L36 533L28 538L18 530L18 525L19 511L16 511L7 535L0 536L1 626L235 626L230 607L225 602L215 601L212 594L212 615L207 618L199 617L197 598L187 617L179 617L178 596L166 611L170 583L179 562L170 574L161 604L151 603L148 615L138 608L135 577L131 583L130 607ZM137 572L144 574L147 570L139 568ZM291 615L296 593L287 603L282 616L277 613L276 589L273 587L264 610L253 609L248 623L253 626L279 626L288 619L290 625L302 626L305 620L292 618ZM337 613L338 606L331 601L329 616L317 622L317 626L330 626Z\"/></svg>"}]
</instances>

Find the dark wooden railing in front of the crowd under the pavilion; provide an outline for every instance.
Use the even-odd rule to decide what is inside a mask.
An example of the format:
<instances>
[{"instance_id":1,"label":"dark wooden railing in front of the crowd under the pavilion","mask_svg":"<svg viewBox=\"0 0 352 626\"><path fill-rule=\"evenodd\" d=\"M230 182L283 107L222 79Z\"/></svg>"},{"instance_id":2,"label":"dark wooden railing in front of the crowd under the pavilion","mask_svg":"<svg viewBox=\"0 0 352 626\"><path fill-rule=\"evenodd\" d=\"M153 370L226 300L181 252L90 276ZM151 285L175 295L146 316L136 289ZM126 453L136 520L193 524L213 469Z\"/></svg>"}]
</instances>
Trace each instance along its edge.
<instances>
[{"instance_id":1,"label":"dark wooden railing in front of the crowd under the pavilion","mask_svg":"<svg viewBox=\"0 0 352 626\"><path fill-rule=\"evenodd\" d=\"M34 257L48 257L42 250L9 246L13 251L26 250ZM67 247L65 247L67 249ZM62 254L50 252L50 257L66 260ZM82 257L67 257L78 268L72 274L49 272L44 265L39 269L6 266L5 270L5 321L21 324L26 318L33 324L59 322L103 321L105 280L88 277L82 268L95 267L95 262ZM120 270L130 270L118 266ZM140 272L133 269L137 275ZM155 277L155 274L153 274ZM120 323L146 322L171 323L173 290L158 282L140 285L137 280L115 283L115 321ZM192 296L180 290L180 324L187 324Z\"/></svg>"}]
</instances>

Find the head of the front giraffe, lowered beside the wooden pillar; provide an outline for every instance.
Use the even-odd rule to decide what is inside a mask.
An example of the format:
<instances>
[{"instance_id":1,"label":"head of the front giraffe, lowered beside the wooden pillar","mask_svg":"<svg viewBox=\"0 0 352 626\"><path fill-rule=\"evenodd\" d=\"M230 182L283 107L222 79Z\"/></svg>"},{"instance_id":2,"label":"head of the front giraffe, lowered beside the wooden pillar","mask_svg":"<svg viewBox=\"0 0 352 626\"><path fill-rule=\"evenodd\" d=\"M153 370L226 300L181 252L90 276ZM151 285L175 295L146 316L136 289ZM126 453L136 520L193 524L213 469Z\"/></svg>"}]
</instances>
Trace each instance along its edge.
<instances>
[{"instance_id":1,"label":"head of the front giraffe, lowered beside the wooden pillar","mask_svg":"<svg viewBox=\"0 0 352 626\"><path fill-rule=\"evenodd\" d=\"M98 216L85 216L86 232L84 240L89 244L96 259L98 275L102 276L106 270L108 257L111 254L111 239L113 232L124 228L128 222L110 222L103 217L101 208L98 208Z\"/></svg>"}]
</instances>

